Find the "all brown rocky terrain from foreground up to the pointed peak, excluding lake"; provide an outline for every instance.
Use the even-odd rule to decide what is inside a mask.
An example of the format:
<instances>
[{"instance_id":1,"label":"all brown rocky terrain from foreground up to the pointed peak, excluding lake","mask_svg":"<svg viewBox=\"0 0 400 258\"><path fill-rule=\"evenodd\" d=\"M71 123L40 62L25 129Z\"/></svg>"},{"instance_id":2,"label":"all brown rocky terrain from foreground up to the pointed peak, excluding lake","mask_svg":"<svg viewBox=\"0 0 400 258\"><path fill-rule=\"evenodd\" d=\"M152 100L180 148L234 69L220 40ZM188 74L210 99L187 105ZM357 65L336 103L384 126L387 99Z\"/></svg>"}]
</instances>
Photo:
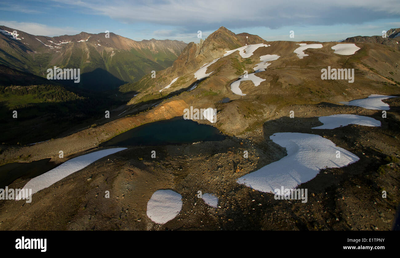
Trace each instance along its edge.
<instances>
[{"instance_id":1,"label":"all brown rocky terrain from foreground up to the pointed peak, excluding lake","mask_svg":"<svg viewBox=\"0 0 400 258\"><path fill-rule=\"evenodd\" d=\"M30 146L2 145L0 164L45 158L61 164L99 150L102 142L142 124L182 116L190 106L216 108L216 123L198 122L218 128L227 136L224 141L129 146L34 194L32 203L0 201L0 229L389 230L400 201L400 99L384 100L390 106L386 118L382 110L339 102L370 94L400 96L400 50L396 43L354 40L347 42L355 42L359 49L340 55L332 49L342 44L338 42L267 42L221 27L199 44L188 44L172 66L156 72L155 78L147 74L126 84L125 96L138 93L114 110L110 119L100 118L104 116L100 110L96 126ZM256 44L265 46L251 55L239 50L227 53ZM322 47L308 48L304 50L308 56L299 58L294 53L298 44ZM256 72L263 79L260 84L246 80L240 84L246 95L235 94L231 84L245 71L255 72L261 57L267 55L279 58ZM208 76L196 77L207 64L204 74ZM321 80L321 69L328 66L354 69L354 82ZM229 101L224 103L223 98ZM294 118L289 116L291 111ZM311 129L322 124L317 116L332 114L369 116L382 126ZM314 179L300 184L299 188L308 189L305 204L275 200L271 193L238 184L241 176L286 155L269 138L278 132L320 135L360 160L342 168L322 169ZM151 158L152 150L156 158ZM22 188L28 180L20 178L9 187ZM148 200L159 189L182 195L182 210L166 224L156 224L146 216ZM110 198L104 198L106 191ZM218 207L205 204L196 196L198 191L218 196ZM382 191L387 198L382 198Z\"/></svg>"}]
</instances>

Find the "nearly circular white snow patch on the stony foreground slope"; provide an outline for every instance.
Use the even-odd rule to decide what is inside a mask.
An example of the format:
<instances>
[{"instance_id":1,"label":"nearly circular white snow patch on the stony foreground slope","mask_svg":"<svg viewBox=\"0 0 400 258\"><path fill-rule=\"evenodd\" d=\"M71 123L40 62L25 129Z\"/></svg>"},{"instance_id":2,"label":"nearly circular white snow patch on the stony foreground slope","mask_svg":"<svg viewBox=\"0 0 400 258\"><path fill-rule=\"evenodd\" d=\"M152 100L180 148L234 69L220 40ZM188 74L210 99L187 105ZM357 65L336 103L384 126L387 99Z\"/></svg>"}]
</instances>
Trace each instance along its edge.
<instances>
[{"instance_id":1,"label":"nearly circular white snow patch on the stony foreground slope","mask_svg":"<svg viewBox=\"0 0 400 258\"><path fill-rule=\"evenodd\" d=\"M181 210L182 195L172 190L154 192L147 203L147 216L158 224L165 224L172 220Z\"/></svg>"}]
</instances>

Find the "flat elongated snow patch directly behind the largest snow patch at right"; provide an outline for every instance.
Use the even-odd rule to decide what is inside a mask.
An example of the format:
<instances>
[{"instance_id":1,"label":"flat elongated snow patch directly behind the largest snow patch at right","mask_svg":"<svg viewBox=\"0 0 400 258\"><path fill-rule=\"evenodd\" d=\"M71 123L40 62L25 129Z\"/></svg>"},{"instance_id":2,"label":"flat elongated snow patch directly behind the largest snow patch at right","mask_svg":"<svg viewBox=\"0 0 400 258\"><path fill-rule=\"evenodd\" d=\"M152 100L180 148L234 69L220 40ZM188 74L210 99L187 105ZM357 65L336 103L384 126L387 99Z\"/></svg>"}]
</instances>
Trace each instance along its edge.
<instances>
[{"instance_id":1,"label":"flat elongated snow patch directly behind the largest snow patch at right","mask_svg":"<svg viewBox=\"0 0 400 258\"><path fill-rule=\"evenodd\" d=\"M347 126L349 124L359 124L361 126L380 126L380 121L368 116L340 114L321 116L318 119L323 123L323 125L311 129L334 129L340 126Z\"/></svg>"}]
</instances>

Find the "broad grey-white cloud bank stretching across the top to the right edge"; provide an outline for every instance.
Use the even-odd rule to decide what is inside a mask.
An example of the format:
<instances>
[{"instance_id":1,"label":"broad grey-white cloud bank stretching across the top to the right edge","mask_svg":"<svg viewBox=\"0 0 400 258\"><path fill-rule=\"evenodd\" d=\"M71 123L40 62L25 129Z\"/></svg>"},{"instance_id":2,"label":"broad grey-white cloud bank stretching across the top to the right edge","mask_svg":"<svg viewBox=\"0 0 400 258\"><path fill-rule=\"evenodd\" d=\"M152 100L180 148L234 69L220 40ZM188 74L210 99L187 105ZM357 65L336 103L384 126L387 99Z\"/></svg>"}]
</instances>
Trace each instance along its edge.
<instances>
[{"instance_id":1,"label":"broad grey-white cloud bank stretching across the top to the right edge","mask_svg":"<svg viewBox=\"0 0 400 258\"><path fill-rule=\"evenodd\" d=\"M201 30L227 26L266 26L278 28L285 25L357 24L373 19L398 17L398 0L53 0L78 6L84 12L123 22L149 22L160 25L184 26L187 30Z\"/></svg>"}]
</instances>

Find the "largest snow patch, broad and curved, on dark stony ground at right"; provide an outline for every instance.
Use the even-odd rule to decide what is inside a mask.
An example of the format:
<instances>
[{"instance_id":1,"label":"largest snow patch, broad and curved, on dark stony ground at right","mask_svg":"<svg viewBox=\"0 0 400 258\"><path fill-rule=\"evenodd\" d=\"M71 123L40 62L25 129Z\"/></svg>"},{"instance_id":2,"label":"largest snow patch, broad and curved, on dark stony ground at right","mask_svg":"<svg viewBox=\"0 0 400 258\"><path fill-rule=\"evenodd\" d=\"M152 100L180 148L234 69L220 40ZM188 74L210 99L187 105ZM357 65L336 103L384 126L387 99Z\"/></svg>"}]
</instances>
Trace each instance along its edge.
<instances>
[{"instance_id":1,"label":"largest snow patch, broad and curved, on dark stony ground at right","mask_svg":"<svg viewBox=\"0 0 400 258\"><path fill-rule=\"evenodd\" d=\"M324 168L341 168L358 161L356 155L335 146L319 135L294 132L276 133L270 139L286 148L284 158L272 162L236 182L261 192L296 188L313 179Z\"/></svg>"}]
</instances>

